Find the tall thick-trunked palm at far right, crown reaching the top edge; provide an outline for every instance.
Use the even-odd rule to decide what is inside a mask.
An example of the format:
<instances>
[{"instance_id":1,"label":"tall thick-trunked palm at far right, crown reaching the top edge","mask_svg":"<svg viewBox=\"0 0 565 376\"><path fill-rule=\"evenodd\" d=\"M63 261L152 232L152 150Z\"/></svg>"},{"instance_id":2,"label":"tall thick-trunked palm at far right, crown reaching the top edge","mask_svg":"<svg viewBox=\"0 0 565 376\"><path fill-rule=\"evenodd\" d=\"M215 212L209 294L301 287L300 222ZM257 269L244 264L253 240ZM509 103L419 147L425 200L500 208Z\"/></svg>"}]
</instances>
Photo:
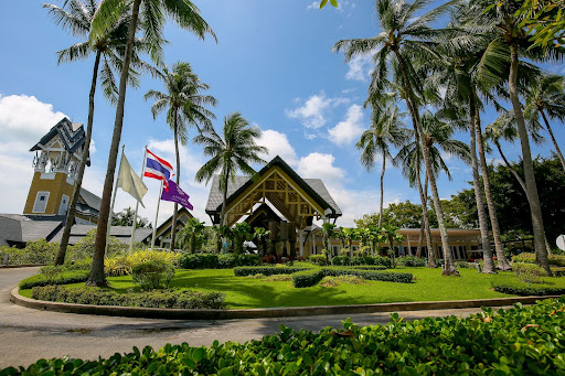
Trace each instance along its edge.
<instances>
[{"instance_id":1,"label":"tall thick-trunked palm at far right, crown reaching the top edge","mask_svg":"<svg viewBox=\"0 0 565 376\"><path fill-rule=\"evenodd\" d=\"M510 66L508 69L508 86L522 147L524 178L527 197L530 198L529 204L532 215L536 259L545 272L548 276L553 276L544 244L542 207L535 184L527 128L522 104L520 103L518 73L520 56L543 61L548 57L556 57L558 51L557 49L547 50L546 52L552 55L546 55L533 46L526 26L522 25L521 20L515 15L520 7L521 1L519 0L500 0L497 4L492 4L489 0L471 0L468 8L468 14L471 15L469 24L490 36L490 43L481 57L478 71L482 76L481 79L498 84L502 80L502 73L505 72L505 67Z\"/></svg>"}]
</instances>

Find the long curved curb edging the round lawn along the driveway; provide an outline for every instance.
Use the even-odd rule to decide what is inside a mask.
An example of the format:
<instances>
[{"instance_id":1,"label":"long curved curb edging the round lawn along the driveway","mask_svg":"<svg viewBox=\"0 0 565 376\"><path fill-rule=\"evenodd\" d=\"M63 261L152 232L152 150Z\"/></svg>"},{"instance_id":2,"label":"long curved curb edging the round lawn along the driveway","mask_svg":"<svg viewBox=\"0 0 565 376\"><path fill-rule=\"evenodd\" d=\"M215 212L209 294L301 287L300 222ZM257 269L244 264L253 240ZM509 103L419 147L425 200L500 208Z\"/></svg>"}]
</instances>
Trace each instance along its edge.
<instances>
[{"instance_id":1,"label":"long curved curb edging the round lawn along the driveway","mask_svg":"<svg viewBox=\"0 0 565 376\"><path fill-rule=\"evenodd\" d=\"M322 314L343 313L374 313L374 312L403 312L424 310L448 310L480 307L502 307L514 303L533 304L536 300L557 299L562 296L547 297L512 297L497 299L476 300L449 300L429 302L402 302L379 304L351 304L351 305L319 305L319 307L290 307L290 308L263 308L238 310L196 310L196 309L160 309L116 305L89 305L49 302L30 299L20 296L18 288L11 292L10 301L17 305L42 311L61 313L97 314L109 316L145 318L145 319L171 319L171 320L230 320L230 319L264 319L264 318L291 318L311 316Z\"/></svg>"}]
</instances>

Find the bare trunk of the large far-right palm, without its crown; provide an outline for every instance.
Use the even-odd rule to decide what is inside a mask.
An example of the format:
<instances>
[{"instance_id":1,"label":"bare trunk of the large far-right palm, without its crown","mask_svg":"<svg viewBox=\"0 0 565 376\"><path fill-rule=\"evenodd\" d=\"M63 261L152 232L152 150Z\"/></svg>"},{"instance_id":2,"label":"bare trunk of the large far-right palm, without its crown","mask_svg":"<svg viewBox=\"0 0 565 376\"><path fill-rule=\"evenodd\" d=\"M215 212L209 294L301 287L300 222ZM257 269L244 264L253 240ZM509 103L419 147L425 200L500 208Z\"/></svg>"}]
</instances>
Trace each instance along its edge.
<instances>
[{"instance_id":1,"label":"bare trunk of the large far-right palm, without its crown","mask_svg":"<svg viewBox=\"0 0 565 376\"><path fill-rule=\"evenodd\" d=\"M532 215L532 228L534 233L534 248L537 262L545 270L547 276L553 276L547 260L547 250L544 244L544 227L542 217L542 206L537 195L537 186L535 185L534 165L532 154L530 151L530 139L527 129L525 127L524 114L518 96L518 44L510 44L510 77L509 89L510 99L514 109L514 117L518 123L518 132L520 135L520 143L522 146L522 160L524 165L525 186L527 190L527 197L530 203L530 211Z\"/></svg>"}]
</instances>

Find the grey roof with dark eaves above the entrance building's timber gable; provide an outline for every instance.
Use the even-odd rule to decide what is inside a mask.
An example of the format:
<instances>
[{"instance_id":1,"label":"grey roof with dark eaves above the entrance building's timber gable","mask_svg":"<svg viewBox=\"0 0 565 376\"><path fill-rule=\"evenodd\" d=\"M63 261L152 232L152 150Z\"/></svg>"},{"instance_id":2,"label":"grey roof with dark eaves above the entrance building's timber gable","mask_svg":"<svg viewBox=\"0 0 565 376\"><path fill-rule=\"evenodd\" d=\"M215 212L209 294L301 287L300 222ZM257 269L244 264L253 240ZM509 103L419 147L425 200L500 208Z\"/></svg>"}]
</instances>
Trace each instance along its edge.
<instances>
[{"instance_id":1,"label":"grey roof with dark eaves above the entrance building's timber gable","mask_svg":"<svg viewBox=\"0 0 565 376\"><path fill-rule=\"evenodd\" d=\"M253 178L249 176L234 176L234 181L228 181L227 184L227 205L237 198L248 186L256 182L264 175L270 168L279 166L298 184L312 200L315 200L323 210L331 210L330 217L339 217L342 215L340 207L333 201L330 193L323 185L321 179L302 179L295 170L292 170L280 157L275 157L267 163L259 172ZM210 195L206 204L206 213L217 214L222 210L223 193L220 191L220 175L214 175L212 186L210 187Z\"/></svg>"}]
</instances>

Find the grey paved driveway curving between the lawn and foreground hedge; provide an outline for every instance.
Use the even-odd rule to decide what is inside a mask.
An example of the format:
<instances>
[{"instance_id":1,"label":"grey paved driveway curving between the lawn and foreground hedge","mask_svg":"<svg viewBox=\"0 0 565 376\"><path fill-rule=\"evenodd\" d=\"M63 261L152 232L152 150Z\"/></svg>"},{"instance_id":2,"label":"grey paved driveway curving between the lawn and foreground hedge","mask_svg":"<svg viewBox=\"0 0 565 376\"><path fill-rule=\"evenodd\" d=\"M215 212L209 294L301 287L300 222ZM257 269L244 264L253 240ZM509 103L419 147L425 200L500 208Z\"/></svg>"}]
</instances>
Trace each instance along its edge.
<instances>
[{"instance_id":1,"label":"grey paved driveway curving between the lawn and foreground hedge","mask_svg":"<svg viewBox=\"0 0 565 376\"><path fill-rule=\"evenodd\" d=\"M28 366L39 358L61 356L96 359L132 346L159 348L167 343L188 342L193 346L221 342L245 342L276 334L278 325L319 331L341 326L348 318L361 325L384 324L388 313L319 315L309 318L253 320L157 320L45 312L14 305L10 290L39 268L0 269L0 369ZM479 309L404 312L406 320L455 314L466 316Z\"/></svg>"}]
</instances>

